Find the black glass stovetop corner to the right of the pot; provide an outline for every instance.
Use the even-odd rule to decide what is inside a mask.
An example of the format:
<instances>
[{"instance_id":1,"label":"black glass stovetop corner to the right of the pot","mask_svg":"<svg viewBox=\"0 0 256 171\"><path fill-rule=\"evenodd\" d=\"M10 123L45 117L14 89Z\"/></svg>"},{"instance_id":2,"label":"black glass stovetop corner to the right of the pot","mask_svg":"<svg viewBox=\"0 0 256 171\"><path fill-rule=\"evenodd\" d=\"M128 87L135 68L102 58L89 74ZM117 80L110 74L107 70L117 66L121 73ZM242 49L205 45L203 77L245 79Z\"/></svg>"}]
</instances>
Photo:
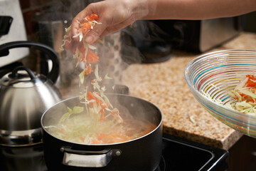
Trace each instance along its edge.
<instances>
[{"instance_id":1,"label":"black glass stovetop corner to the right of the pot","mask_svg":"<svg viewBox=\"0 0 256 171\"><path fill-rule=\"evenodd\" d=\"M227 170L228 151L164 135L161 170ZM165 165L164 165L164 162Z\"/></svg>"}]
</instances>

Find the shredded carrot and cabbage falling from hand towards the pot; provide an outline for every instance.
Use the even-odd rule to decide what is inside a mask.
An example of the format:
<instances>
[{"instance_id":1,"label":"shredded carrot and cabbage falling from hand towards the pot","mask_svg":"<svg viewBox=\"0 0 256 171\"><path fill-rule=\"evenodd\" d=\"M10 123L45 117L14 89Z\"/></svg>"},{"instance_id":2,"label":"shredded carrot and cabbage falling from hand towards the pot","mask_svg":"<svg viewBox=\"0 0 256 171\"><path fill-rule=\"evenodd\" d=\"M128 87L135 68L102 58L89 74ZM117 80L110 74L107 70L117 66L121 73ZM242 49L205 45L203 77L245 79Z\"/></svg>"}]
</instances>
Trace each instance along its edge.
<instances>
[{"instance_id":1,"label":"shredded carrot and cabbage falling from hand towards the pot","mask_svg":"<svg viewBox=\"0 0 256 171\"><path fill-rule=\"evenodd\" d=\"M71 37L70 27L66 29L65 36L63 38L63 45L61 48L65 51L71 51L73 54L73 58L77 59L78 66L79 63L85 63L85 68L79 74L80 85L84 83L85 76L92 73L92 64L95 64L95 79L91 81L92 88L94 91L88 90L86 88L85 93L80 95L80 100L82 103L85 103L85 108L87 113L93 118L97 118L97 120L116 120L117 123L122 123L122 118L119 116L119 110L117 108L113 108L110 100L105 95L105 86L100 86L100 82L102 78L99 76L97 62L99 61L99 56L96 53L92 52L96 49L95 46L92 46L84 41L86 34L88 31L92 30L96 24L100 24L99 17L96 14L91 14L86 16L84 22L80 24L78 29L78 35ZM73 38L78 37L79 41L73 41ZM109 76L105 76L105 79L111 79ZM89 106L87 106L89 105ZM80 111L80 107L78 107ZM60 119L60 123L65 123L65 120L70 118L70 115L73 113L77 113L77 108L71 110L68 108L68 112L63 115Z\"/></svg>"}]
</instances>

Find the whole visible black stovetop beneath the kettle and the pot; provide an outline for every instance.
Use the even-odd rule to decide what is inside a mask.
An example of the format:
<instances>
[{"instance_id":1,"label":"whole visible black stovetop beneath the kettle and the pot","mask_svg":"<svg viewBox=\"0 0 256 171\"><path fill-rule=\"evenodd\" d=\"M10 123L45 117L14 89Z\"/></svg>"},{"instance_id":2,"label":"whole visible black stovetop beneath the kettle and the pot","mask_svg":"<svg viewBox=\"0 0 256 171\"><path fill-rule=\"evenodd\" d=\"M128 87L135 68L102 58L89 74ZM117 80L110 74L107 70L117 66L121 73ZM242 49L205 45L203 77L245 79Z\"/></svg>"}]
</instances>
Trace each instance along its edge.
<instances>
[{"instance_id":1,"label":"whole visible black stovetop beneath the kettle and the pot","mask_svg":"<svg viewBox=\"0 0 256 171\"><path fill-rule=\"evenodd\" d=\"M161 162L155 171L227 168L228 151L164 134ZM43 160L43 145L0 147L0 170L47 171Z\"/></svg>"}]
</instances>

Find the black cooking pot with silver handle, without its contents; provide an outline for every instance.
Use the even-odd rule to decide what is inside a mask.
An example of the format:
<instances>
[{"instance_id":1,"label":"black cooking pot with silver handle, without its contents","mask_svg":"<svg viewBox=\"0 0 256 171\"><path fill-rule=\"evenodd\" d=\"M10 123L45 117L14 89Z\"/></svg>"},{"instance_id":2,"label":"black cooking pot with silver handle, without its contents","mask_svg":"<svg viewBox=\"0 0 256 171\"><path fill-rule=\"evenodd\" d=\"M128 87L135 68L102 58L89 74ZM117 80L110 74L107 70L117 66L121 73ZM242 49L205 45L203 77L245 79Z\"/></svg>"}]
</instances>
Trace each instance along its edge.
<instances>
[{"instance_id":1,"label":"black cooking pot with silver handle, without its contents","mask_svg":"<svg viewBox=\"0 0 256 171\"><path fill-rule=\"evenodd\" d=\"M112 105L122 105L131 115L144 118L156 128L140 138L105 145L86 145L60 140L44 126L55 125L66 113L67 106L81 105L79 98L70 98L54 105L43 114L44 157L48 170L113 170L154 171L161 160L162 114L152 103L130 95L108 94ZM122 113L122 108L119 109ZM121 114L122 115L122 114Z\"/></svg>"}]
</instances>

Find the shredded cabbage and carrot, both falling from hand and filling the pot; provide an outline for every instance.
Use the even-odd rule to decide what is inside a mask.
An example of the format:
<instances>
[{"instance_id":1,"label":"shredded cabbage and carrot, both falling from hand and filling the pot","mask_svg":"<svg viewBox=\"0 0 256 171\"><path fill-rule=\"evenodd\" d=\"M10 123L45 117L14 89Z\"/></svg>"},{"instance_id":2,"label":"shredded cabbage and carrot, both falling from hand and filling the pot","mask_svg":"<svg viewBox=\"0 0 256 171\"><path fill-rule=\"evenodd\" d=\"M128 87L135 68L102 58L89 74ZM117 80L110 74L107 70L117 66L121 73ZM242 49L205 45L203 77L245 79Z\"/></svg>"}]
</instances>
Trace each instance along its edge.
<instances>
[{"instance_id":1,"label":"shredded cabbage and carrot, both falling from hand and filling the pot","mask_svg":"<svg viewBox=\"0 0 256 171\"><path fill-rule=\"evenodd\" d=\"M79 74L80 85L84 83L85 75L92 73L91 64L96 63L98 59L96 53L91 52L96 47L84 41L87 31L95 24L100 24L97 19L95 14L85 17L85 23L80 24L78 35L73 36L73 38L79 36L79 42L74 42L73 38L68 36L70 35L70 27L68 27L61 46L63 50L65 47L65 50L73 52L73 58L77 59L76 66L81 62L85 63L85 68ZM97 64L94 73L92 88L85 87L85 92L79 97L82 106L75 106L73 109L67 107L67 113L60 118L57 125L45 126L52 135L71 142L102 144L132 140L156 128L156 125L142 120L124 122L119 110L114 108L105 95L106 87L101 86L102 77L99 76ZM106 75L104 79L112 78Z\"/></svg>"}]
</instances>

